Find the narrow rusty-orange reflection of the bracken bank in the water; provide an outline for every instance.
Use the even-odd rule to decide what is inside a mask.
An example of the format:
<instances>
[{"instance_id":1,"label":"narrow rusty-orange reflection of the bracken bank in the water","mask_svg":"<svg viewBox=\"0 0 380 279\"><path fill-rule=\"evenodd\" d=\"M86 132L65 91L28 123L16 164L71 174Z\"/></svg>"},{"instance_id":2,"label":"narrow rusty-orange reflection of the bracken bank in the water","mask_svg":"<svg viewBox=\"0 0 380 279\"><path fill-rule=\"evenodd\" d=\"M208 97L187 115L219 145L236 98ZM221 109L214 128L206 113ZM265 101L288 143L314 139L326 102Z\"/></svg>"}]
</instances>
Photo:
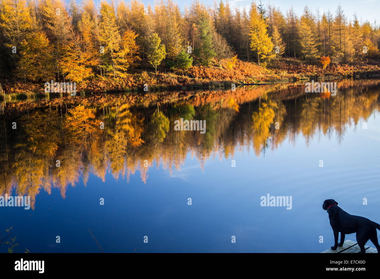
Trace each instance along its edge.
<instances>
[{"instance_id":1,"label":"narrow rusty-orange reflection of the bracken bank in the water","mask_svg":"<svg viewBox=\"0 0 380 279\"><path fill-rule=\"evenodd\" d=\"M345 89L348 87L355 87L357 82L364 82L367 80L368 85L378 85L380 84L380 78L365 78L365 79L340 79L340 84L338 89ZM339 81L339 80L336 80ZM41 96L41 98L28 98L24 100L7 102L6 109L4 107L4 102L0 102L0 113L6 113L6 111L11 112L15 110L27 110L34 109L35 107L49 107L49 106L92 106L100 107L112 103L118 104L129 104L133 106L150 106L156 103L170 103L170 102L182 102L182 101L194 101L198 103L205 102L220 102L225 101L225 99L234 99L237 104L242 104L246 101L259 98L264 94L270 94L274 91L279 91L283 89L292 89L299 88L299 90L304 87L305 80L298 80L295 82L277 82L268 85L247 85L236 87L235 91L232 91L230 88L202 88L197 90L168 90L168 91L159 91L159 92L130 92L130 93L106 93L106 94L84 94L83 96L70 96L70 93L67 95L59 96L53 95L57 93L51 93L49 96ZM299 91L297 90L297 91ZM297 96L284 95L283 99L297 98L305 94L302 89ZM308 94L308 93L306 93ZM312 93L314 94L314 93ZM318 93L315 93L318 94ZM323 96L326 98L326 96Z\"/></svg>"}]
</instances>

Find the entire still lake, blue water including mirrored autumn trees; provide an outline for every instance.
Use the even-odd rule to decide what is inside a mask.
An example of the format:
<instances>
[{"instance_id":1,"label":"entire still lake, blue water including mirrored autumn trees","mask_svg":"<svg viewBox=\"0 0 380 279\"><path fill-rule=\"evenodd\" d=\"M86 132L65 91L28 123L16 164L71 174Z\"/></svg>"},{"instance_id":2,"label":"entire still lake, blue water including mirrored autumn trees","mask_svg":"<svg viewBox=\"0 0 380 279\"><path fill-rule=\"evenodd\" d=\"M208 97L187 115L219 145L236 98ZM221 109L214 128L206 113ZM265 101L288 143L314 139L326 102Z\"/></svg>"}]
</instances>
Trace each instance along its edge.
<instances>
[{"instance_id":1,"label":"entire still lake, blue water including mirrored autumn trees","mask_svg":"<svg viewBox=\"0 0 380 279\"><path fill-rule=\"evenodd\" d=\"M7 104L0 195L30 209L1 206L1 236L13 227L18 252L324 251L325 199L380 222L379 94L369 79L337 81L335 96L298 83L135 106Z\"/></svg>"}]
</instances>

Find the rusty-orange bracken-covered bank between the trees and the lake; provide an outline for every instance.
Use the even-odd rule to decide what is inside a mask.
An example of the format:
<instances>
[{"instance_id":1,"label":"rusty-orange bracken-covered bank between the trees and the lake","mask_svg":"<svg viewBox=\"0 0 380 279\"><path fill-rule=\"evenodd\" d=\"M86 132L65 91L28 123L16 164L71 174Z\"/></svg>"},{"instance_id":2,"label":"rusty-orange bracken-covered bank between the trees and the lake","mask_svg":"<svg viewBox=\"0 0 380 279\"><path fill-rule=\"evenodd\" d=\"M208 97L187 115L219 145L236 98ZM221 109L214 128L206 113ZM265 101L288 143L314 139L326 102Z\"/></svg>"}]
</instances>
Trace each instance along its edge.
<instances>
[{"instance_id":1,"label":"rusty-orange bracken-covered bank between the trees and the lake","mask_svg":"<svg viewBox=\"0 0 380 279\"><path fill-rule=\"evenodd\" d=\"M76 95L110 94L110 93L158 93L171 90L214 90L228 89L234 84L288 83L312 78L318 80L366 79L380 77L378 65L330 65L323 70L320 65L307 65L300 61L283 58L278 68L264 68L255 63L237 60L232 68L222 66L192 66L187 70L168 71L155 74L143 69L135 70L125 78L106 79L94 76L91 80L76 83ZM44 81L38 83L21 83L14 80L0 79L7 102L49 97L44 92ZM54 80L69 82L69 80ZM49 80L50 82L50 80ZM145 89L145 90L144 90ZM59 93L58 93L59 94ZM68 93L61 93L65 95ZM8 95L8 96L7 96ZM4 93L0 94L0 101Z\"/></svg>"}]
</instances>

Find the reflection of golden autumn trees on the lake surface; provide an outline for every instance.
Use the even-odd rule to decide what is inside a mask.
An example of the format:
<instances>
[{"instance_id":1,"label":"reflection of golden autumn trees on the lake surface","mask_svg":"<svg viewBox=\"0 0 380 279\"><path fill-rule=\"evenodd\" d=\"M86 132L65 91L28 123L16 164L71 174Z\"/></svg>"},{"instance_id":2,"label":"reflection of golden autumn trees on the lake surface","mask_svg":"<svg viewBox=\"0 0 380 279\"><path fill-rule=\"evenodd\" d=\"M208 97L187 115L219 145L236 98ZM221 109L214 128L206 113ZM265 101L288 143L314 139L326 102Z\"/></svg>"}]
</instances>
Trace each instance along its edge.
<instances>
[{"instance_id":1,"label":"reflection of golden autumn trees on the lake surface","mask_svg":"<svg viewBox=\"0 0 380 279\"><path fill-rule=\"evenodd\" d=\"M20 138L6 142L5 133L0 133L0 195L12 191L30 195L34 209L41 189L51 193L57 188L65 198L68 186L74 187L80 178L86 185L89 173L105 181L108 171L116 179L128 179L139 171L145 183L152 166L161 165L172 173L184 166L188 154L203 168L209 159L233 158L234 152L252 146L259 156L268 148L275 150L286 139L294 143L298 135L307 145L318 133L336 131L341 139L351 123L357 125L379 111L379 85L380 80L340 81L339 94L334 98L329 98L329 92L305 96L301 84L272 87L272 93L268 93L269 87L207 91L204 97L183 101L196 106L196 113L203 111L204 117L209 117L206 134L171 127L162 142L151 140L155 130L148 126L155 106L152 111L150 106L131 109L128 102L117 101L117 106L102 104L96 108L86 103L89 98L83 100L85 105L73 106L65 113L60 106L27 110L29 103L9 105L9 115L24 116ZM171 104L161 107L173 123L176 115L169 113ZM100 121L105 123L104 130L99 128ZM274 128L277 122L279 129ZM5 130L3 125L0 121L0 131ZM60 167L55 167L57 159Z\"/></svg>"}]
</instances>

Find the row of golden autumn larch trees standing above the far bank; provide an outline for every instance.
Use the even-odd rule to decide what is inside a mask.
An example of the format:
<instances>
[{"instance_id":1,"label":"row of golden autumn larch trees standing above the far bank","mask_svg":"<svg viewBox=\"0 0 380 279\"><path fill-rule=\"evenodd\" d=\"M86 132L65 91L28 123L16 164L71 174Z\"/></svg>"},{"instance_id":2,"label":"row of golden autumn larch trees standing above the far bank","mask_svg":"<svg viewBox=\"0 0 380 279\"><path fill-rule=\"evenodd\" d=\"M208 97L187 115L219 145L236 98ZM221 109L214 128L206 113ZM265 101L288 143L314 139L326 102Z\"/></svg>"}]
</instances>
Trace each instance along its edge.
<instances>
[{"instance_id":1,"label":"row of golden autumn larch trees standing above the far bank","mask_svg":"<svg viewBox=\"0 0 380 279\"><path fill-rule=\"evenodd\" d=\"M379 57L376 23L336 12L301 16L293 7L228 2L207 7L198 0L183 11L172 0L144 6L138 0L1 0L0 75L27 81L86 82L94 76L124 78L133 68L232 68L236 59L266 66L282 56L352 63Z\"/></svg>"}]
</instances>

